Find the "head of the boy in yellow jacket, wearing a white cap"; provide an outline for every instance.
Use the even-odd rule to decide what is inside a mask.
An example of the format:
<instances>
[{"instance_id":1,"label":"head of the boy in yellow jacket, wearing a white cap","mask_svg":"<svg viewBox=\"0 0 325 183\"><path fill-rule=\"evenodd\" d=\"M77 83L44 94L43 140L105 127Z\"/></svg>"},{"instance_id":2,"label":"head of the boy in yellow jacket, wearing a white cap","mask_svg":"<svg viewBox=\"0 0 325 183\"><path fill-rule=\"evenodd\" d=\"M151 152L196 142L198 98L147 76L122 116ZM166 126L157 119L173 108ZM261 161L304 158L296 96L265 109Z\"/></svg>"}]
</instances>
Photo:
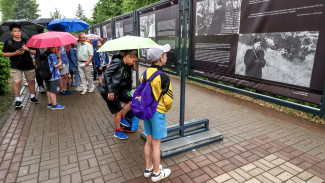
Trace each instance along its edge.
<instances>
[{"instance_id":1,"label":"head of the boy in yellow jacket, wearing a white cap","mask_svg":"<svg viewBox=\"0 0 325 183\"><path fill-rule=\"evenodd\" d=\"M167 62L167 52L170 51L170 45L155 45L148 49L147 59L155 65L163 66Z\"/></svg>"}]
</instances>

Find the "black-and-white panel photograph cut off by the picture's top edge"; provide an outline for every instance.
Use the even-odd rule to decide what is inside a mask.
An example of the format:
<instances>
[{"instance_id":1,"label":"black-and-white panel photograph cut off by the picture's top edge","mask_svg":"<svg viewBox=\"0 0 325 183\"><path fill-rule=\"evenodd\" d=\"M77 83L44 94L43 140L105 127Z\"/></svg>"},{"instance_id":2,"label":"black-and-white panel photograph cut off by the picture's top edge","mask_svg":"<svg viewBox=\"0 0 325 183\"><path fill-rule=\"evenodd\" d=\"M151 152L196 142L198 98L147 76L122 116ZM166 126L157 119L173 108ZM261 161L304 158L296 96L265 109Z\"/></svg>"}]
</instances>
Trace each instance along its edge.
<instances>
[{"instance_id":1,"label":"black-and-white panel photograph cut off by the picture's top edge","mask_svg":"<svg viewBox=\"0 0 325 183\"><path fill-rule=\"evenodd\" d=\"M241 0L196 1L195 35L238 34Z\"/></svg>"}]
</instances>

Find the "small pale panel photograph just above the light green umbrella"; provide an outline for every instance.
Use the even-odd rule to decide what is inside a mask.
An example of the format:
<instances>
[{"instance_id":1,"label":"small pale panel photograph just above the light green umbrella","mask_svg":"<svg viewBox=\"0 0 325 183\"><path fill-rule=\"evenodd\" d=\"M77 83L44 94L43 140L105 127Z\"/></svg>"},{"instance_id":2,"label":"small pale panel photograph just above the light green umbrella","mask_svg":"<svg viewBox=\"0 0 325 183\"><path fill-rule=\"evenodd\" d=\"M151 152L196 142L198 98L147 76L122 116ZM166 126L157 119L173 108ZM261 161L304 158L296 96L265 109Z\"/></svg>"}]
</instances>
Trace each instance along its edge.
<instances>
[{"instance_id":1,"label":"small pale panel photograph just above the light green umbrella","mask_svg":"<svg viewBox=\"0 0 325 183\"><path fill-rule=\"evenodd\" d=\"M155 14L140 17L140 36L156 37L156 19Z\"/></svg>"}]
</instances>

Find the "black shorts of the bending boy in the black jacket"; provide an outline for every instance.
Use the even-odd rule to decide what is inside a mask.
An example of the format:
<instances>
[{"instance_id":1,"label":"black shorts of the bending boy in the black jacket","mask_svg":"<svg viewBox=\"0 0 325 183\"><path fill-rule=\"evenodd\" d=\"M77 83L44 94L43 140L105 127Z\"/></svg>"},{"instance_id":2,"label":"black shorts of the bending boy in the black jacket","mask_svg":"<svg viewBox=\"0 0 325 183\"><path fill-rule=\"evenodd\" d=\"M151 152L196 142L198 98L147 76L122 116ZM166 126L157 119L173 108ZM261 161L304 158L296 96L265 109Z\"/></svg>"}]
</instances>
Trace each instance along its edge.
<instances>
[{"instance_id":1,"label":"black shorts of the bending boy in the black jacket","mask_svg":"<svg viewBox=\"0 0 325 183\"><path fill-rule=\"evenodd\" d=\"M101 93L103 99L105 100L108 109L111 111L112 114L118 113L122 110L122 106L120 102L129 103L132 101L131 94L126 91L122 90L120 92L116 92L114 94L114 100L108 100L107 95Z\"/></svg>"}]
</instances>

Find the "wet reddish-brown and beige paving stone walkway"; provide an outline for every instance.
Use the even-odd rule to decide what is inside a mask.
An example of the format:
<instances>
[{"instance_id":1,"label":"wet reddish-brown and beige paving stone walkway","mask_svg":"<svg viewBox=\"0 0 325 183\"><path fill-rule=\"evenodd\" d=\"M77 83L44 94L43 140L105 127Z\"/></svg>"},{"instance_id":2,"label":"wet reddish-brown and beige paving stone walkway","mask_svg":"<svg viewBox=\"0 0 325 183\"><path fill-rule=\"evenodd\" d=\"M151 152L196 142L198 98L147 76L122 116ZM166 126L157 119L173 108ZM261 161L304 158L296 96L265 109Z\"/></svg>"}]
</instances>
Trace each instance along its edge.
<instances>
[{"instance_id":1,"label":"wet reddish-brown and beige paving stone walkway","mask_svg":"<svg viewBox=\"0 0 325 183\"><path fill-rule=\"evenodd\" d=\"M141 68L143 71L143 68ZM172 79L178 124L180 81ZM140 138L113 137L113 116L98 92L59 96L67 109L28 101L12 110L0 132L0 182L151 182ZM224 140L163 159L172 169L163 182L325 182L325 127L256 104L186 85L185 120L209 119Z\"/></svg>"}]
</instances>

